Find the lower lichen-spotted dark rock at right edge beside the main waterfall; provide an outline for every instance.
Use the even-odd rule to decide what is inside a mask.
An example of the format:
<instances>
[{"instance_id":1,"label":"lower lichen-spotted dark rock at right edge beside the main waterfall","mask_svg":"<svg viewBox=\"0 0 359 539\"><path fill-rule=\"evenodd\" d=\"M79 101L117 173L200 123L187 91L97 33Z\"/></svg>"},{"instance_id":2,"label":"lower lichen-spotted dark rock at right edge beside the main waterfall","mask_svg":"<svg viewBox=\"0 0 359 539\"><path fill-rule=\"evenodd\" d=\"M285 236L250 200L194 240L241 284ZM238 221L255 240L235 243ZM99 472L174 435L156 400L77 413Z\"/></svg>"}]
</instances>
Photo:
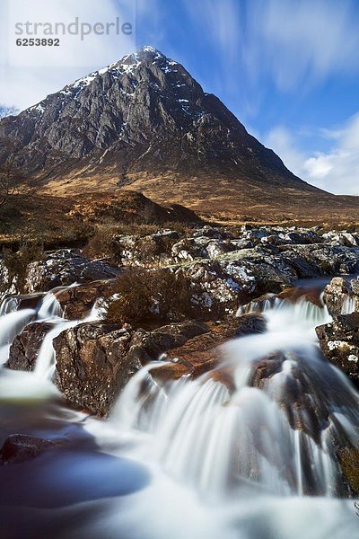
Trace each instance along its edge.
<instances>
[{"instance_id":1,"label":"lower lichen-spotted dark rock at right edge beside the main waterfall","mask_svg":"<svg viewBox=\"0 0 359 539\"><path fill-rule=\"evenodd\" d=\"M359 383L359 313L340 314L332 323L316 328L324 355Z\"/></svg>"}]
</instances>

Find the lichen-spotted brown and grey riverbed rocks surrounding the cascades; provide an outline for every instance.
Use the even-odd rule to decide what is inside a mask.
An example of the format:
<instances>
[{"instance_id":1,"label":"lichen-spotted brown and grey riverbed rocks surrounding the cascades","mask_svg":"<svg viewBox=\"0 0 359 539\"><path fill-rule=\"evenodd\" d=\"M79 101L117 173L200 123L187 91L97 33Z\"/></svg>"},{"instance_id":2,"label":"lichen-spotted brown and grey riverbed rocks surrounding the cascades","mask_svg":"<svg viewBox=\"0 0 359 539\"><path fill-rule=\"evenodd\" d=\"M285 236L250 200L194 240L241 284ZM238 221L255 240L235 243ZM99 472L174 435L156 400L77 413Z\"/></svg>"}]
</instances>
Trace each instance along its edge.
<instances>
[{"instance_id":1,"label":"lichen-spotted brown and grey riverbed rocks surrounding the cascades","mask_svg":"<svg viewBox=\"0 0 359 539\"><path fill-rule=\"evenodd\" d=\"M55 380L69 402L106 414L129 377L148 361L175 349L182 358L179 372L183 374L186 366L190 370L193 354L188 351L186 358L182 349L204 334L206 340L197 354L204 354L208 366L212 365L210 350L220 341L263 331L260 312L266 305L295 303L301 296L313 305L326 305L335 317L317 329L320 348L357 380L358 323L350 313L358 311L359 281L333 278L322 297L319 285L313 285L310 296L308 290L294 285L305 279L328 278L329 282L338 274L359 273L359 234L324 232L319 227L200 225L185 232L173 228L116 236L113 245L116 256L106 260L90 260L81 250L46 252L41 260L26 266L22 290L18 276L0 261L4 312L12 302L20 309L36 309L41 296L51 289L67 320L85 318L94 305L102 312L101 320L64 329L54 339ZM147 275L151 276L149 284L144 281ZM159 286L164 275L182 278L169 283L173 288L167 301L163 296L168 290ZM127 289L122 290L118 283L125 276ZM144 287L149 286L144 298ZM134 318L131 310L125 310L117 320L114 308L115 315L107 321L111 305L126 303L126 294L136 287L133 301L143 304L143 312ZM176 309L180 301L187 302L185 309ZM235 317L249 311L250 317ZM50 327L51 322L39 323L34 318L13 340L7 366L33 369Z\"/></svg>"}]
</instances>

